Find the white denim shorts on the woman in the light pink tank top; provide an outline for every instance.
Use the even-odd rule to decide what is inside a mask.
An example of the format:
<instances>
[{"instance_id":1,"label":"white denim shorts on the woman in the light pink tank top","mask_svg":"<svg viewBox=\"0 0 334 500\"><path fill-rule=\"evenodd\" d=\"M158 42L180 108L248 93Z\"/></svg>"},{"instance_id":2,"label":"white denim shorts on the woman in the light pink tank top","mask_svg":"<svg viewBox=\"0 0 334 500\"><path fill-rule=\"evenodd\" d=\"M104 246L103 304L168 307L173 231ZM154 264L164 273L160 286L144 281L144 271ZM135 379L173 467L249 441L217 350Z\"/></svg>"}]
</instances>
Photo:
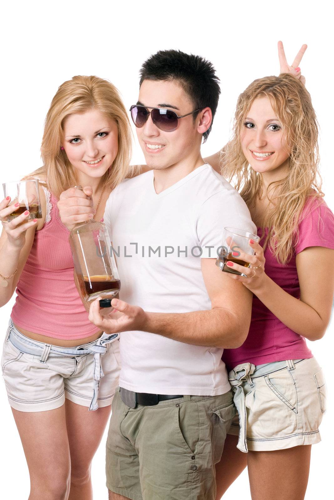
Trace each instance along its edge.
<instances>
[{"instance_id":1,"label":"white denim shorts on the woman in the light pink tank top","mask_svg":"<svg viewBox=\"0 0 334 500\"><path fill-rule=\"evenodd\" d=\"M10 320L1 367L10 405L46 411L71 401L90 410L111 404L120 372L119 335L75 347L32 340Z\"/></svg>"}]
</instances>

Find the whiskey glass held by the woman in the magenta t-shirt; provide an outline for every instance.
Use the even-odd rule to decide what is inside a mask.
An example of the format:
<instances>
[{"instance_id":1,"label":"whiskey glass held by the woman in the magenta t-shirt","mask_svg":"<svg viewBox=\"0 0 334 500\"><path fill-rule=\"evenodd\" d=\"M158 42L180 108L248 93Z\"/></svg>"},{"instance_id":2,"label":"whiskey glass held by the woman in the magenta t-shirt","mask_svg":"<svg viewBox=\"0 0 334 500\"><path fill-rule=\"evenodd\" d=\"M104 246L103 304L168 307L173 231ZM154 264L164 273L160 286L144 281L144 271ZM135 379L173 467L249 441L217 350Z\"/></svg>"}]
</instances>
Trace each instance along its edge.
<instances>
[{"instance_id":1,"label":"whiskey glass held by the woman in the magenta t-shirt","mask_svg":"<svg viewBox=\"0 0 334 500\"><path fill-rule=\"evenodd\" d=\"M257 234L252 234L251 232L244 231L243 229L238 229L236 227L224 227L222 246L220 247L220 252L216 260L216 265L219 267L219 269L224 272L230 272L231 274L246 276L246 274L226 265L226 262L230 260L231 262L243 265L244 267L249 267L249 262L245 262L244 260L239 259L237 255L232 255L232 252L239 252L239 255L240 252L253 255L254 250L249 245L250 239L253 239L257 243L260 240Z\"/></svg>"}]
</instances>

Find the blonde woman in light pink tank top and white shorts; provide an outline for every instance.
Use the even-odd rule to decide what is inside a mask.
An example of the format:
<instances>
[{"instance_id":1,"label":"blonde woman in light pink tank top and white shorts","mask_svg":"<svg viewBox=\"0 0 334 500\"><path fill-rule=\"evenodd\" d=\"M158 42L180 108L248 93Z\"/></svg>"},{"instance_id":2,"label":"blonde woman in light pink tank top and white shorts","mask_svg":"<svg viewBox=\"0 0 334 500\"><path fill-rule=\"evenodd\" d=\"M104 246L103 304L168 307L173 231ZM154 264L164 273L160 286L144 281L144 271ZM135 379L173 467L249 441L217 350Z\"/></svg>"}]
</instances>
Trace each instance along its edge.
<instances>
[{"instance_id":1,"label":"blonde woman in light pink tank top and white shorts","mask_svg":"<svg viewBox=\"0 0 334 500\"><path fill-rule=\"evenodd\" d=\"M133 173L130 151L129 119L114 85L96 76L64 82L45 122L44 166L28 176L40 180L43 217L27 222L27 212L3 222L0 285L8 285L0 286L0 306L15 290L17 299L2 370L31 500L93 498L91 462L118 382L119 342L88 319L57 203L66 191L82 206L75 222L101 220L111 190ZM69 190L78 184L90 186L93 202ZM1 220L13 211L10 201L0 202Z\"/></svg>"}]
</instances>

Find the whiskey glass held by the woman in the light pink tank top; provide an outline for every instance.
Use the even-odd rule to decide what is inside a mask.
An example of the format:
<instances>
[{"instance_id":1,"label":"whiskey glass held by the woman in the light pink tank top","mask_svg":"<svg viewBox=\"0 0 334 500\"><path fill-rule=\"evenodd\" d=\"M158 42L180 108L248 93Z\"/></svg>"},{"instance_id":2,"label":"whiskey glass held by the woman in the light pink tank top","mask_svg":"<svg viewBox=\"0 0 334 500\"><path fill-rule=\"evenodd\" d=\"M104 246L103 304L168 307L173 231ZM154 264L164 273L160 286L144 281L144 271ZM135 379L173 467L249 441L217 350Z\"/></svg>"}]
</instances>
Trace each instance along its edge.
<instances>
[{"instance_id":1,"label":"whiskey glass held by the woman in the light pink tank top","mask_svg":"<svg viewBox=\"0 0 334 500\"><path fill-rule=\"evenodd\" d=\"M7 196L11 196L11 201L8 206L14 205L15 203L20 203L18 209L13 210L13 212L7 216L7 222L10 222L15 217L18 217L26 210L29 210L30 212L27 220L42 218L38 180L33 179L5 182L3 184L3 187L5 198Z\"/></svg>"}]
</instances>

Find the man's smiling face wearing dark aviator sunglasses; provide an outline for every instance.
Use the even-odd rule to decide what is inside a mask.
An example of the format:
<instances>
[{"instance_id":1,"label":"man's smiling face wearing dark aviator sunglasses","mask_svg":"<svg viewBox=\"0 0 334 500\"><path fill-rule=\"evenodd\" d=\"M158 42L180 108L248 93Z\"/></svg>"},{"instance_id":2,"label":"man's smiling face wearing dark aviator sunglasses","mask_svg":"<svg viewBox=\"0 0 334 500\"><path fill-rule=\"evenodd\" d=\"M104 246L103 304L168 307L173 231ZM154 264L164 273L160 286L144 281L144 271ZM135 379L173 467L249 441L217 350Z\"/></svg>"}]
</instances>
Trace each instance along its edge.
<instances>
[{"instance_id":1,"label":"man's smiling face wearing dark aviator sunglasses","mask_svg":"<svg viewBox=\"0 0 334 500\"><path fill-rule=\"evenodd\" d=\"M171 109L179 116L195 109L180 85L163 80L144 80L137 104ZM141 128L136 128L147 165L154 169L163 169L198 155L202 139L202 134L198 131L198 121L199 116L194 123L193 114L189 114L178 120L174 131L165 132L160 130L149 116Z\"/></svg>"}]
</instances>

